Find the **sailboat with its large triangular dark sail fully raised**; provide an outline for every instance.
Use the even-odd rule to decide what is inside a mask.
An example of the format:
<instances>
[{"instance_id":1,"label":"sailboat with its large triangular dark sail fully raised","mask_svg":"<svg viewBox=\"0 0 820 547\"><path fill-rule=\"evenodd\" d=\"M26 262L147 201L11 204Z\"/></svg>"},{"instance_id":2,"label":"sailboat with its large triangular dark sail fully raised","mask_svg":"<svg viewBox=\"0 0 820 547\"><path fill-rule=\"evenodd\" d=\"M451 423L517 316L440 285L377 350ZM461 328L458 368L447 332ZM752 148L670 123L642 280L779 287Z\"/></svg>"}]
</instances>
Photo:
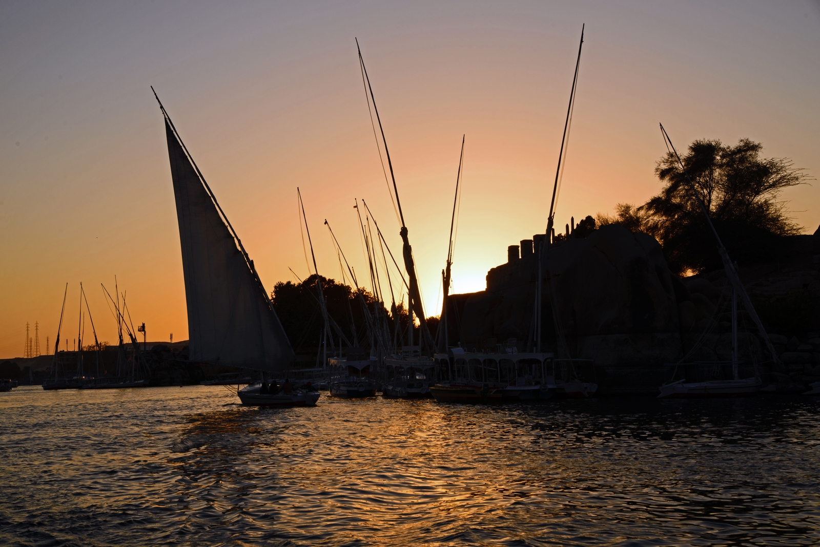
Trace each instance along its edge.
<instances>
[{"instance_id":1,"label":"sailboat with its large triangular dark sail fully raised","mask_svg":"<svg viewBox=\"0 0 820 547\"><path fill-rule=\"evenodd\" d=\"M153 90L153 88L152 88ZM156 97L156 92L154 93ZM294 360L285 330L230 221L159 101L180 225L189 359L278 373ZM245 405L315 405L317 392L237 390Z\"/></svg>"}]
</instances>

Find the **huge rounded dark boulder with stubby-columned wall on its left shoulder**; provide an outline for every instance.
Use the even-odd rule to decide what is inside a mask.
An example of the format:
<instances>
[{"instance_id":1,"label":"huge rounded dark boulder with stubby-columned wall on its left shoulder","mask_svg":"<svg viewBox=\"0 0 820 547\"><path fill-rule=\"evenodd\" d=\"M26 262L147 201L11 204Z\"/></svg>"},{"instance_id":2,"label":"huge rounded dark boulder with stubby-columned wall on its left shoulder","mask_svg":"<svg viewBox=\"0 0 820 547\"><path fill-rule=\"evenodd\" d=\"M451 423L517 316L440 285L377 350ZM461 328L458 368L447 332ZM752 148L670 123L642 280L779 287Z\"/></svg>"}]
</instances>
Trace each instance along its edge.
<instances>
[{"instance_id":1,"label":"huge rounded dark boulder with stubby-columned wall on its left shoulder","mask_svg":"<svg viewBox=\"0 0 820 547\"><path fill-rule=\"evenodd\" d=\"M509 346L515 339L519 350L532 350L537 268L532 255L490 270L487 290L475 293L464 305L464 346L481 348L502 341ZM543 273L544 348L562 346L554 327L554 306L569 354L594 360L594 377L604 391L657 390L667 373L663 364L682 356L677 303L689 301L689 292L669 271L658 242L618 225L605 226L585 239L570 238L553 246ZM686 310L691 315L692 310ZM564 353L558 351L559 356Z\"/></svg>"}]
</instances>

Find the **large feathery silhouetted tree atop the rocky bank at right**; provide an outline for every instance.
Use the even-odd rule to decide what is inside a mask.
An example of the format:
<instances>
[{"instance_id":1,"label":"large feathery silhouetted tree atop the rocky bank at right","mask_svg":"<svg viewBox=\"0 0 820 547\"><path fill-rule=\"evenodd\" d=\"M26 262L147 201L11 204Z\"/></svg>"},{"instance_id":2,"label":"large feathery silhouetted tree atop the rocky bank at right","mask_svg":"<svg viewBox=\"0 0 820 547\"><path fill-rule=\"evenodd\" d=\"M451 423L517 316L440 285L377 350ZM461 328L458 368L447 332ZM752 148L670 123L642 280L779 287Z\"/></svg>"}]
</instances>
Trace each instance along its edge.
<instances>
[{"instance_id":1,"label":"large feathery silhouetted tree atop the rocky bank at right","mask_svg":"<svg viewBox=\"0 0 820 547\"><path fill-rule=\"evenodd\" d=\"M774 259L779 236L801 229L777 198L808 176L786 158L761 158L762 149L748 138L734 147L697 140L681 158L730 255L746 262ZM661 242L673 270L719 268L713 235L671 152L658 160L655 174L665 186L640 206L640 228Z\"/></svg>"}]
</instances>

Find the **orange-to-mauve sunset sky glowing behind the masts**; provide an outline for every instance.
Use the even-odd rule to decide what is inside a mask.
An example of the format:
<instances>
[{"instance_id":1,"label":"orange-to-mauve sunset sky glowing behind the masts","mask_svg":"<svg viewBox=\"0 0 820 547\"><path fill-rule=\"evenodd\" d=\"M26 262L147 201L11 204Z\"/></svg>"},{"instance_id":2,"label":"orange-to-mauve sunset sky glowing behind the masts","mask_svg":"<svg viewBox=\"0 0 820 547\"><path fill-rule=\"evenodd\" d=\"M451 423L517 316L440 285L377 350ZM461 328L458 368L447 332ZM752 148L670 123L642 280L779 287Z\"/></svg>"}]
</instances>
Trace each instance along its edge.
<instances>
[{"instance_id":1,"label":"orange-to-mauve sunset sky glowing behind the masts","mask_svg":"<svg viewBox=\"0 0 820 547\"><path fill-rule=\"evenodd\" d=\"M115 275L149 340L187 338L150 85L268 291L308 274L297 187L322 275L339 278L328 219L365 277L354 198L400 252L354 37L430 314L464 133L453 291L483 289L508 245L544 231L584 23L559 227L658 191L658 122L679 149L748 137L820 174L818 2L0 3L0 358L23 354L27 321L53 345L66 283L62 337L83 282L116 343L100 287ZM807 233L811 184L783 195Z\"/></svg>"}]
</instances>

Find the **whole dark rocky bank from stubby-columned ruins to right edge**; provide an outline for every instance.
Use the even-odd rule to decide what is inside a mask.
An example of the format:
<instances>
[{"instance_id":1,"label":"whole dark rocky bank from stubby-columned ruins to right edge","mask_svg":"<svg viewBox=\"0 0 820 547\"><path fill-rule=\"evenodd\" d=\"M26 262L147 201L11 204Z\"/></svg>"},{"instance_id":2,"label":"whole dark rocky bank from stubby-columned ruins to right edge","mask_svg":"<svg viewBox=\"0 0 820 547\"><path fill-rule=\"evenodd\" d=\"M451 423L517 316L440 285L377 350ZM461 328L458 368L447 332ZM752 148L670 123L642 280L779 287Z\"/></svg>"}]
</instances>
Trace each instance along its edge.
<instances>
[{"instance_id":1,"label":"whole dark rocky bank from stubby-columned ruins to right edge","mask_svg":"<svg viewBox=\"0 0 820 547\"><path fill-rule=\"evenodd\" d=\"M508 262L487 273L485 291L453 295L459 323L450 325L451 344L533 349L539 237L534 237L535 253L532 240L521 242L520 255L518 246L510 246ZM790 338L772 335L781 364L770 366L772 356L739 304L740 368L744 377L757 369L777 391L799 391L820 377L820 346L813 342L820 337L806 336L813 328L809 323L820 320L812 311L820 310L812 304L820 302L820 229L814 236L783 238L782 246L788 264L741 265L740 278L767 328L789 332ZM681 359L731 360L731 288L725 273L678 278L653 237L617 225L585 239L568 237L549 250L542 273L542 347L558 348L559 357L568 352L573 359L593 359L589 379L599 383L602 394L657 392L670 379L672 368L665 364ZM563 328L566 348L553 317ZM696 376L695 368L687 377Z\"/></svg>"}]
</instances>

